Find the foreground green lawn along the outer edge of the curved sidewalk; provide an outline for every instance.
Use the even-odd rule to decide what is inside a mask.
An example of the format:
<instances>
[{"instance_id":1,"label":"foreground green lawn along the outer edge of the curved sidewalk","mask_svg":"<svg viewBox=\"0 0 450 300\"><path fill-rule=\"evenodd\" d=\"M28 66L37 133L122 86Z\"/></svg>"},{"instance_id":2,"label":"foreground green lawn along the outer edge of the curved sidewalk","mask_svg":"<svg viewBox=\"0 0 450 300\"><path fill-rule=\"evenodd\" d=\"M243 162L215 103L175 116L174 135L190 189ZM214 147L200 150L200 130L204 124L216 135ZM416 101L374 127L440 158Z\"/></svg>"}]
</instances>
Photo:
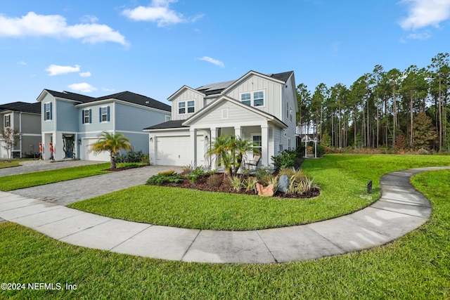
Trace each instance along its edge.
<instances>
[{"instance_id":1,"label":"foreground green lawn along the outer edge of the curved sidewalk","mask_svg":"<svg viewBox=\"0 0 450 300\"><path fill-rule=\"evenodd\" d=\"M76 247L0 223L2 282L77 285L75 291L0 290L0 298L449 299L449 182L450 170L413 178L433 207L430 221L418 230L383 247L300 263L218 265L144 259Z\"/></svg>"}]
</instances>

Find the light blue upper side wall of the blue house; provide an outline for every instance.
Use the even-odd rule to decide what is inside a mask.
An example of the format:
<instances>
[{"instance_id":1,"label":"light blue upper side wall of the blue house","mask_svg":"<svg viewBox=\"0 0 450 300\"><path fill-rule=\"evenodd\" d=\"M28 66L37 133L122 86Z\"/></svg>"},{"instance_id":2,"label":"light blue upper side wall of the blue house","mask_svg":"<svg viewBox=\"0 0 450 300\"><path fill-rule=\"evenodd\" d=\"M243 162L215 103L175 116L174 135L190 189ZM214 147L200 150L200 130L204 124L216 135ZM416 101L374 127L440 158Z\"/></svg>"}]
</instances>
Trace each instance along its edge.
<instances>
[{"instance_id":1,"label":"light blue upper side wall of the blue house","mask_svg":"<svg viewBox=\"0 0 450 300\"><path fill-rule=\"evenodd\" d=\"M166 115L170 116L170 112L156 112L146 108L115 103L115 130L143 132L142 130L148 126L166 122Z\"/></svg>"}]
</instances>

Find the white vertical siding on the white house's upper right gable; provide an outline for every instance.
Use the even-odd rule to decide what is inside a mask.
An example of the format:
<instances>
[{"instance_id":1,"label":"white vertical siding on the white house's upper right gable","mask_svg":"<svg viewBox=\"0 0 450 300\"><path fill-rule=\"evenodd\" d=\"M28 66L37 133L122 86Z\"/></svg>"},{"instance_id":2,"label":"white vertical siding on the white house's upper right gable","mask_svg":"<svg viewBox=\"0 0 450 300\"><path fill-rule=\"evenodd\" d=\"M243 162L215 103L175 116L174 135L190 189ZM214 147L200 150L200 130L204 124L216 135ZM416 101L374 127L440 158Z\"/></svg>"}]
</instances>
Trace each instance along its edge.
<instances>
[{"instance_id":1,"label":"white vertical siding on the white house's upper right gable","mask_svg":"<svg viewBox=\"0 0 450 300\"><path fill-rule=\"evenodd\" d=\"M252 91L264 91L264 106L258 106L259 110L267 112L268 114L280 117L280 96L281 84L274 81L269 81L261 77L252 75L234 89L226 93L226 96L240 101L240 93Z\"/></svg>"}]
</instances>

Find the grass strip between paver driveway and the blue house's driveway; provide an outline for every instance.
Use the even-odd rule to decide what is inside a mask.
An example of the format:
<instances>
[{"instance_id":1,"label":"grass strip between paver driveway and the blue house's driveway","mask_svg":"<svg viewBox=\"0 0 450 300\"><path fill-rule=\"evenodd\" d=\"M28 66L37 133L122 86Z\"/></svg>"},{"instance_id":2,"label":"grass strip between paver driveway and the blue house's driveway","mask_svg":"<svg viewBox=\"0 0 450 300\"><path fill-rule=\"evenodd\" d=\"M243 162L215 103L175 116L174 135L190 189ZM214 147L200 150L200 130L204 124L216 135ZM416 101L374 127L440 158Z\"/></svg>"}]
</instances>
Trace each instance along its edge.
<instances>
[{"instance_id":1,"label":"grass strip between paver driveway and the blue house's driveway","mask_svg":"<svg viewBox=\"0 0 450 300\"><path fill-rule=\"evenodd\" d=\"M71 179L105 174L109 173L109 171L102 171L102 170L107 169L109 167L110 167L109 163L90 164L88 166L3 176L1 177L0 180L0 190L3 191L17 190L19 188L30 188L36 185L44 185L60 181L68 181Z\"/></svg>"}]
</instances>

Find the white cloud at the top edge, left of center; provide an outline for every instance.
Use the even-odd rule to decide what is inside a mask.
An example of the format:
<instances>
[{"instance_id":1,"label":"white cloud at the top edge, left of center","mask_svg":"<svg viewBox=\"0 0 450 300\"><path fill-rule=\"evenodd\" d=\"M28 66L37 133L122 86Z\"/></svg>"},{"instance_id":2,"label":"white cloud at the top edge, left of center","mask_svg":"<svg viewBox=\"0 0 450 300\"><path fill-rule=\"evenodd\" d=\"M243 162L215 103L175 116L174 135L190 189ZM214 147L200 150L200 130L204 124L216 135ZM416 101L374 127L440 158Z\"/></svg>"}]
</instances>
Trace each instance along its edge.
<instances>
[{"instance_id":1,"label":"white cloud at the top edge, left of center","mask_svg":"<svg viewBox=\"0 0 450 300\"><path fill-rule=\"evenodd\" d=\"M169 4L177 0L153 0L150 6L138 6L133 9L125 9L122 15L134 21L155 22L158 27L175 25L182 22L195 22L203 15L186 18L183 14L169 8Z\"/></svg>"}]
</instances>

